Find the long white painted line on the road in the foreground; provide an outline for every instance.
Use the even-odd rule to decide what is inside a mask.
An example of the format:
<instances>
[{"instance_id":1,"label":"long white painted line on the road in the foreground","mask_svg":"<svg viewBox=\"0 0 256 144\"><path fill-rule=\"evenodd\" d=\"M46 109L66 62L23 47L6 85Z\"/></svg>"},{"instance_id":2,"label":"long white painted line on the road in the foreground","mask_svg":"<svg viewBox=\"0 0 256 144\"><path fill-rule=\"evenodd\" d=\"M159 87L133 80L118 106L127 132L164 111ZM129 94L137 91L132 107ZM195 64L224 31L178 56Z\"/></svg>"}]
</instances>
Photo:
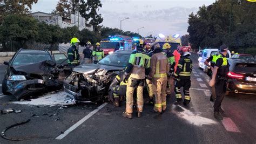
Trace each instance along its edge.
<instances>
[{"instance_id":1,"label":"long white painted line on the road in the foreground","mask_svg":"<svg viewBox=\"0 0 256 144\"><path fill-rule=\"evenodd\" d=\"M106 106L107 103L104 103L100 105L97 109L94 109L92 112L89 114L85 115L83 119L80 119L75 125L71 126L69 129L67 129L63 134L60 134L56 139L61 140L63 139L66 135L68 135L70 132L75 130L78 126L82 125L83 122L85 122L87 119L89 119L93 114L97 113L100 109L102 109L104 106Z\"/></svg>"}]
</instances>

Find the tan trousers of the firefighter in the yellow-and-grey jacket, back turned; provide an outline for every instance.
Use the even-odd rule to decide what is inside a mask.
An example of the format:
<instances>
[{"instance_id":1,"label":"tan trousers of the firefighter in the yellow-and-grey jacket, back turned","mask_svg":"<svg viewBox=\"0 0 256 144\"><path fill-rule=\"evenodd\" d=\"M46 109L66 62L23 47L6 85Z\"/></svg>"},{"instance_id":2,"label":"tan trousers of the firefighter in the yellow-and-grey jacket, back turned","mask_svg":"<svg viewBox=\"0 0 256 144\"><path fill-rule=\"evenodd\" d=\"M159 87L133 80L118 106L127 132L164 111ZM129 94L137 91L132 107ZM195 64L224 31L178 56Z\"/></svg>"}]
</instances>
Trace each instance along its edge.
<instances>
[{"instance_id":1,"label":"tan trousers of the firefighter in the yellow-and-grey jacket, back turned","mask_svg":"<svg viewBox=\"0 0 256 144\"><path fill-rule=\"evenodd\" d=\"M143 111L143 86L145 79L129 78L126 91L126 113L132 113L133 93L137 87L137 108L139 112Z\"/></svg>"}]
</instances>

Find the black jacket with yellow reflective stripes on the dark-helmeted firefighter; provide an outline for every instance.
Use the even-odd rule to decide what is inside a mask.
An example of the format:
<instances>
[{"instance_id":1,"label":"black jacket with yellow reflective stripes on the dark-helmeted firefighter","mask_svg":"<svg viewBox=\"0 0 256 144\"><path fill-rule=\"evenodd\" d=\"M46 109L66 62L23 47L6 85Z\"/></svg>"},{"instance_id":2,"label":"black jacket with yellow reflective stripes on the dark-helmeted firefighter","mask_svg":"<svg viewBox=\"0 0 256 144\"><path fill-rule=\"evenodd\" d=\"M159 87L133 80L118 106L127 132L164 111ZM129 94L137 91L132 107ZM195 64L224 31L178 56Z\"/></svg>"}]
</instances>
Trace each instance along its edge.
<instances>
[{"instance_id":1,"label":"black jacket with yellow reflective stripes on the dark-helmeted firefighter","mask_svg":"<svg viewBox=\"0 0 256 144\"><path fill-rule=\"evenodd\" d=\"M178 77L180 79L190 79L192 68L192 60L187 56L183 56L179 60L177 70L174 72L174 77Z\"/></svg>"}]
</instances>

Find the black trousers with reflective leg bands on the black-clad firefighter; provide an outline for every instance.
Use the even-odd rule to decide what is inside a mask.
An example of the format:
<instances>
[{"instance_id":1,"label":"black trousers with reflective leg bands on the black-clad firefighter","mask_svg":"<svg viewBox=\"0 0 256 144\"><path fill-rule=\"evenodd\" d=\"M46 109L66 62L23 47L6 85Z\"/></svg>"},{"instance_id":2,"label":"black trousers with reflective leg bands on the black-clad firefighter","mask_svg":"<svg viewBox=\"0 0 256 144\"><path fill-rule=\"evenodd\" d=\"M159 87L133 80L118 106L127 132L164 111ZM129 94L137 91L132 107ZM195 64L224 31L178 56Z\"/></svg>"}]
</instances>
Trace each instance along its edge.
<instances>
[{"instance_id":1,"label":"black trousers with reflective leg bands on the black-clad firefighter","mask_svg":"<svg viewBox=\"0 0 256 144\"><path fill-rule=\"evenodd\" d=\"M182 101L181 97L181 92L180 92L180 87L183 87L183 92L184 92L184 102L186 104L190 103L190 86L191 86L191 81L190 78L187 79L179 79L177 78L175 81L175 93L176 93L176 99L177 101Z\"/></svg>"}]
</instances>

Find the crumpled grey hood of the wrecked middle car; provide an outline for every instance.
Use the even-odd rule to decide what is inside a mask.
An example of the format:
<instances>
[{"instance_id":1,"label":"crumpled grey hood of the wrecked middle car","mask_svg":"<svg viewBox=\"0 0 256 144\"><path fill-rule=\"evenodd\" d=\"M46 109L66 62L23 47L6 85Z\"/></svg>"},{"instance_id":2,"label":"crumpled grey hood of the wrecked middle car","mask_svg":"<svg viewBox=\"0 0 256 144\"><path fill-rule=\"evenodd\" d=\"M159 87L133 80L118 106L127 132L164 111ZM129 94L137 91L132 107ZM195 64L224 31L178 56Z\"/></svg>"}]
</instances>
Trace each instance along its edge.
<instances>
[{"instance_id":1,"label":"crumpled grey hood of the wrecked middle car","mask_svg":"<svg viewBox=\"0 0 256 144\"><path fill-rule=\"evenodd\" d=\"M73 69L74 72L79 72L83 74L90 74L95 72L97 69L103 68L105 71L97 71L98 75L104 75L107 71L111 70L123 70L123 67L117 67L117 66L108 66L108 65L99 65L99 64L84 64L79 65Z\"/></svg>"}]
</instances>

